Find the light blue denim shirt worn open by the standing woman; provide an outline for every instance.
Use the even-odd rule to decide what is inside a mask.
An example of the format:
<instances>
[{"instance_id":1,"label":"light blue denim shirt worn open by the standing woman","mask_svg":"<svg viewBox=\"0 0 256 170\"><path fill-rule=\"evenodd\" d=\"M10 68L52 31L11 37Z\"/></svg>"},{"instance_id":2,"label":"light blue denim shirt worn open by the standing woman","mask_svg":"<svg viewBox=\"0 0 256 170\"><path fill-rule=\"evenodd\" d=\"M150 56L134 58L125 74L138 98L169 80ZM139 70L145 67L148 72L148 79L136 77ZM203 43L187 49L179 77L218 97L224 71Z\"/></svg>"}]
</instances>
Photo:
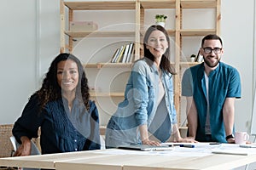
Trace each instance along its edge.
<instances>
[{"instance_id":1,"label":"light blue denim shirt worn open by the standing woman","mask_svg":"<svg viewBox=\"0 0 256 170\"><path fill-rule=\"evenodd\" d=\"M165 89L166 110L172 124L177 123L173 102L172 74L162 71ZM138 60L132 67L131 76L126 84L125 99L108 122L106 144L140 143L137 127L153 121L157 110L159 93L159 73L156 65L147 58ZM170 128L172 125L170 124ZM169 129L166 129L169 130Z\"/></svg>"}]
</instances>

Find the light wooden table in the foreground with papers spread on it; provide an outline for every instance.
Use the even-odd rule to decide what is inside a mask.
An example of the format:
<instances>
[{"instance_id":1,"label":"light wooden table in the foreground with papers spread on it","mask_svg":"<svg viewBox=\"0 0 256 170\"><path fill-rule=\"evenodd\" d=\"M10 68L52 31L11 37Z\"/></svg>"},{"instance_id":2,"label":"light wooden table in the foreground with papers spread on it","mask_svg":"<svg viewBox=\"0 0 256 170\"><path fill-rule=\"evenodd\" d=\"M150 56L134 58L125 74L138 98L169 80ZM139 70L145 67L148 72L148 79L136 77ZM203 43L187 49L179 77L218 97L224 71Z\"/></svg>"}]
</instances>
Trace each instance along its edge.
<instances>
[{"instance_id":1,"label":"light wooden table in the foreground with papers spread on it","mask_svg":"<svg viewBox=\"0 0 256 170\"><path fill-rule=\"evenodd\" d=\"M230 146L232 146L230 148ZM247 156L212 154L211 150L248 150ZM195 148L174 147L171 151L144 152L133 150L93 150L43 156L1 158L1 166L41 167L57 170L153 170L231 169L256 161L256 149L241 149L236 144Z\"/></svg>"}]
</instances>

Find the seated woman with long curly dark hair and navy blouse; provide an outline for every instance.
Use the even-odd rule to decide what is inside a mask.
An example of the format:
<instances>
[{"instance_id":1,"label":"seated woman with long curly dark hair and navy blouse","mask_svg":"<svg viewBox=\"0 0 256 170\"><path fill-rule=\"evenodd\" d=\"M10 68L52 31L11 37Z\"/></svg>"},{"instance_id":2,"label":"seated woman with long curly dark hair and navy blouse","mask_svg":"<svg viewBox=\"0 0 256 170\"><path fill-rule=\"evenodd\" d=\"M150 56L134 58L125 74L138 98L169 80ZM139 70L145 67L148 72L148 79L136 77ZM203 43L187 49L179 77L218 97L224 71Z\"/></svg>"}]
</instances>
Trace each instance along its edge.
<instances>
[{"instance_id":1,"label":"seated woman with long curly dark hair and navy blouse","mask_svg":"<svg viewBox=\"0 0 256 170\"><path fill-rule=\"evenodd\" d=\"M101 148L98 111L83 65L73 54L59 54L52 61L42 88L15 122L13 134L20 143L15 156L31 154L39 127L42 154Z\"/></svg>"}]
</instances>

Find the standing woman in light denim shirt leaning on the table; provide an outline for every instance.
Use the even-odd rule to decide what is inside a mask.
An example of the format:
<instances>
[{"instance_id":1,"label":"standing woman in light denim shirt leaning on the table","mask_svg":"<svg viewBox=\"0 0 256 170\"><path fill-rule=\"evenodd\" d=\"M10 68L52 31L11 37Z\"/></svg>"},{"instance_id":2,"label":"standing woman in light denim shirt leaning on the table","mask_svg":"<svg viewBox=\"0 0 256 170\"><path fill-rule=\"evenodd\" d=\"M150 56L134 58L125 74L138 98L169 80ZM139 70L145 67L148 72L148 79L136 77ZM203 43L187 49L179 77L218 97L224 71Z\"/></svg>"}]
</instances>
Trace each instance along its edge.
<instances>
[{"instance_id":1,"label":"standing woman in light denim shirt leaning on the table","mask_svg":"<svg viewBox=\"0 0 256 170\"><path fill-rule=\"evenodd\" d=\"M162 26L150 26L145 33L144 58L134 63L125 88L125 100L110 118L106 130L108 148L127 144L160 145L174 134L183 139L177 127L173 103L170 39Z\"/></svg>"}]
</instances>

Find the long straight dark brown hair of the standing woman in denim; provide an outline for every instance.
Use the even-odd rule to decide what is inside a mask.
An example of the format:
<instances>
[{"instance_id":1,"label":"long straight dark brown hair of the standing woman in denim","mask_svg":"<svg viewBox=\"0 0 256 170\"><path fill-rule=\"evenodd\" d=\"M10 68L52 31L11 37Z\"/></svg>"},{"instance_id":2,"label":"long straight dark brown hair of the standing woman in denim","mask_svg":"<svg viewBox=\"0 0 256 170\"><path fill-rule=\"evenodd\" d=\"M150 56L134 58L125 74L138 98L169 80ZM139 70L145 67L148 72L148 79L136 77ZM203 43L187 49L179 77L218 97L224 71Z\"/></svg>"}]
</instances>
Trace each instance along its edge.
<instances>
[{"instance_id":1,"label":"long straight dark brown hair of the standing woman in denim","mask_svg":"<svg viewBox=\"0 0 256 170\"><path fill-rule=\"evenodd\" d=\"M144 41L143 41L143 46L144 46L144 56L148 59L150 59L151 61L154 61L154 55L150 53L149 49L146 48L147 47L147 43L148 43L148 37L150 36L151 32L153 31L162 31L165 36L166 36L166 40L168 42L168 48L166 49L166 53L163 54L162 59L160 61L160 68L163 69L166 72L171 73L172 75L175 75L176 72L173 68L173 66L171 65L171 54L170 54L170 38L168 36L168 32L166 31L166 29L162 26L158 26L158 25L153 25L150 26L148 28L148 30L145 33L144 36Z\"/></svg>"}]
</instances>

